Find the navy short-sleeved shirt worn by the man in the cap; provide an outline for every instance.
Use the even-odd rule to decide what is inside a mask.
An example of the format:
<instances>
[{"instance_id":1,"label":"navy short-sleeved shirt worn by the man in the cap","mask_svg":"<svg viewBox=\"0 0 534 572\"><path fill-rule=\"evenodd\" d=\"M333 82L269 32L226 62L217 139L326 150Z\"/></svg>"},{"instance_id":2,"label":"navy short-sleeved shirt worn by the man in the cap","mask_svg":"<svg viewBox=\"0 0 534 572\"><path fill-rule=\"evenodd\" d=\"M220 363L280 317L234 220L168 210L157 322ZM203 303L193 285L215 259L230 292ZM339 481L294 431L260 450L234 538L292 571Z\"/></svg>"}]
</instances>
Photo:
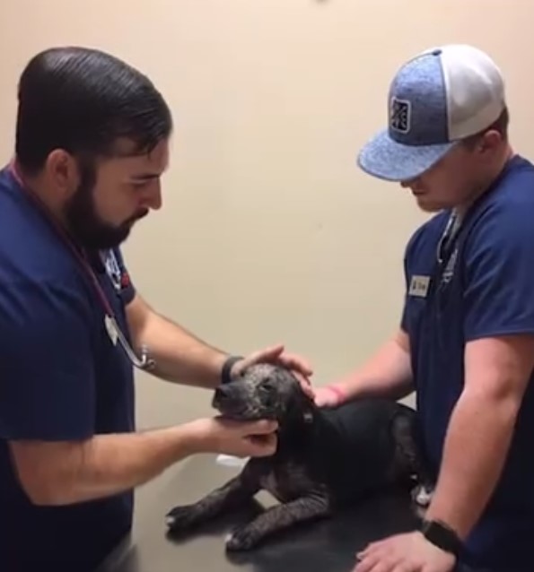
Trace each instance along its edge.
<instances>
[{"instance_id":1,"label":"navy short-sleeved shirt worn by the man in the cap","mask_svg":"<svg viewBox=\"0 0 534 572\"><path fill-rule=\"evenodd\" d=\"M519 156L509 162L464 218L456 238L441 249L438 264L449 216L441 212L416 230L405 257L402 326L410 337L421 438L434 476L464 385L466 343L534 334L534 166ZM468 538L472 564L503 572L534 569L532 382L502 478Z\"/></svg>"}]
</instances>

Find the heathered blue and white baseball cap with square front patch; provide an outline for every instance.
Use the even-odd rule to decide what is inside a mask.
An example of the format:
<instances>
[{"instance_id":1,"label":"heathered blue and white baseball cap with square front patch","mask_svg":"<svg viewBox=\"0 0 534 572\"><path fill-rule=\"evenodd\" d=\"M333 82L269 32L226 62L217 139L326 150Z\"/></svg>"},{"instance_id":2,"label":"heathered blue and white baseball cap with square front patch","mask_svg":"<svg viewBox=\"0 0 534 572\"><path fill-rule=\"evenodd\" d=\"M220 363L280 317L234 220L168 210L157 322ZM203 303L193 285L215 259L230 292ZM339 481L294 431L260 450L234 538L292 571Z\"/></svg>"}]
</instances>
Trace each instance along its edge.
<instances>
[{"instance_id":1,"label":"heathered blue and white baseball cap with square front patch","mask_svg":"<svg viewBox=\"0 0 534 572\"><path fill-rule=\"evenodd\" d=\"M491 126L504 107L503 76L485 52L464 44L426 49L398 70L388 128L363 146L357 164L385 180L416 178Z\"/></svg>"}]
</instances>

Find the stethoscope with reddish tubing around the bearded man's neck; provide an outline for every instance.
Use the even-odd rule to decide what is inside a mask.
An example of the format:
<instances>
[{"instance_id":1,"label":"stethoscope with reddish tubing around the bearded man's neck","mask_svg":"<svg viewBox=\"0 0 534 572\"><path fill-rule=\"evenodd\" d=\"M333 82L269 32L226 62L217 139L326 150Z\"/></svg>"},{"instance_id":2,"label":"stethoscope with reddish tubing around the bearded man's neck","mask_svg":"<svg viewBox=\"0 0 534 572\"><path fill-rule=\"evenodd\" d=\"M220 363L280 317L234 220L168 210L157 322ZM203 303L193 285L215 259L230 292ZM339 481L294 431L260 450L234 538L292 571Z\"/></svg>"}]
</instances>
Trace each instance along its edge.
<instances>
[{"instance_id":1,"label":"stethoscope with reddish tubing around the bearded man's neck","mask_svg":"<svg viewBox=\"0 0 534 572\"><path fill-rule=\"evenodd\" d=\"M104 290L102 290L101 284L98 281L96 274L93 272L91 264L89 263L89 260L88 260L87 256L85 255L85 253L83 251L80 251L78 248L76 248L74 246L74 242L71 238L69 238L68 234L66 233L66 230L64 230L61 227L61 225L59 225L57 223L57 221L52 216L50 216L50 213L48 212L46 205L40 201L40 199L37 195L32 193L31 190L27 186L24 185L24 182L22 181L22 177L19 175L19 173L16 169L16 165L15 165L14 160L11 161L11 163L9 165L9 170L10 170L13 178L17 181L19 186L21 186L24 193L26 195L28 195L31 198L31 200L39 207L39 210L44 214L44 216L48 220L48 222L57 231L59 238L61 238L61 240L65 243L66 247L68 247L70 249L70 251L74 255L75 259L82 266L85 273L87 273L89 279L92 282L94 289L97 292L99 299L101 300L101 305L102 305L102 308L104 309L104 325L105 325L106 331L109 335L109 339L111 340L113 345L116 346L117 342L118 342L120 344L120 346L122 347L122 349L127 354L128 360L130 360L132 365L134 365L136 368L144 369L144 370L153 369L155 367L155 361L153 360L153 358L150 357L147 346L143 345L141 347L141 357L137 357L136 352L133 350L132 346L127 341L126 336L120 330L120 327L118 326L117 319L115 317L115 313L113 312L113 308L111 308L111 305L109 304L109 300L107 299ZM114 264L117 265L117 260L115 259L115 256L112 253L111 253L111 256L113 256ZM103 259L102 259L102 263L104 264L104 266L106 268L106 273L108 274L109 280L112 282L113 287L116 288L116 283L115 283L114 277L111 275L111 273L109 271L108 264L106 264L106 261Z\"/></svg>"}]
</instances>

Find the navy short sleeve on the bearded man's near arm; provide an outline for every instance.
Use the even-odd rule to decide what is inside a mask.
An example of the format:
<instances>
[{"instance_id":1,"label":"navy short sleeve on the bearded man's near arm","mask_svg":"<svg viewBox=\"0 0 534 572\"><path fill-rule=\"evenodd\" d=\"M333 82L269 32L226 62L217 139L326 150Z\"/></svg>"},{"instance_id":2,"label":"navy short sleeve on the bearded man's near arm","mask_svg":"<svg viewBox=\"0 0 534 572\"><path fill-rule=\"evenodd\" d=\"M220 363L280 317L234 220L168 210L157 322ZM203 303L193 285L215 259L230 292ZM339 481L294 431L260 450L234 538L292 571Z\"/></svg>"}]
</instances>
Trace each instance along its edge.
<instances>
[{"instance_id":1,"label":"navy short sleeve on the bearded man's near arm","mask_svg":"<svg viewBox=\"0 0 534 572\"><path fill-rule=\"evenodd\" d=\"M74 287L29 279L0 284L1 438L92 435L91 320Z\"/></svg>"}]
</instances>

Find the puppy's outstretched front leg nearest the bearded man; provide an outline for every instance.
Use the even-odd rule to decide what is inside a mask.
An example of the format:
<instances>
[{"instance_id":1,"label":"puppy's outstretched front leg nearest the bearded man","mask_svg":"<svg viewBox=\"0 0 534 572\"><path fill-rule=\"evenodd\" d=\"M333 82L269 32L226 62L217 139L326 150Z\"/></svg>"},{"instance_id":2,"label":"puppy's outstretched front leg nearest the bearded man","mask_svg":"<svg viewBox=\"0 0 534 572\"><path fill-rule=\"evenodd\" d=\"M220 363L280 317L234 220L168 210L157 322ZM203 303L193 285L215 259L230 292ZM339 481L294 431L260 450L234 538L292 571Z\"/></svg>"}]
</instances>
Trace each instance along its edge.
<instances>
[{"instance_id":1,"label":"puppy's outstretched front leg nearest the bearded man","mask_svg":"<svg viewBox=\"0 0 534 572\"><path fill-rule=\"evenodd\" d=\"M171 533L188 531L198 524L204 524L222 515L233 507L238 507L260 489L258 465L249 461L242 472L227 481L222 487L213 490L204 498L190 505L173 507L165 516L165 523Z\"/></svg>"}]
</instances>

